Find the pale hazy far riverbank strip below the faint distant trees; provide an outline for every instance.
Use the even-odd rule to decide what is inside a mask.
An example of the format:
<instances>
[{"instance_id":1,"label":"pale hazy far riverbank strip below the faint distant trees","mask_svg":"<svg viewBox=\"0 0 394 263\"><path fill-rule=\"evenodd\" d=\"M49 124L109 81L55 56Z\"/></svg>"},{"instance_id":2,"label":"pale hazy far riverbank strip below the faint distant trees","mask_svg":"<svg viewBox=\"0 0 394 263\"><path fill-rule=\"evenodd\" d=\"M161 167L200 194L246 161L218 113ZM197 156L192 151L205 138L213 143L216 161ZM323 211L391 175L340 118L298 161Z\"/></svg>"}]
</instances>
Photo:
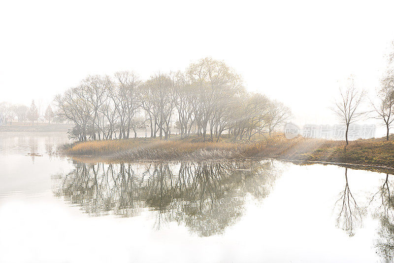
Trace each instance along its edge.
<instances>
[{"instance_id":1,"label":"pale hazy far riverbank strip below the faint distant trees","mask_svg":"<svg viewBox=\"0 0 394 263\"><path fill-rule=\"evenodd\" d=\"M0 132L67 132L71 127L71 124L60 123L13 124L0 126Z\"/></svg>"}]
</instances>

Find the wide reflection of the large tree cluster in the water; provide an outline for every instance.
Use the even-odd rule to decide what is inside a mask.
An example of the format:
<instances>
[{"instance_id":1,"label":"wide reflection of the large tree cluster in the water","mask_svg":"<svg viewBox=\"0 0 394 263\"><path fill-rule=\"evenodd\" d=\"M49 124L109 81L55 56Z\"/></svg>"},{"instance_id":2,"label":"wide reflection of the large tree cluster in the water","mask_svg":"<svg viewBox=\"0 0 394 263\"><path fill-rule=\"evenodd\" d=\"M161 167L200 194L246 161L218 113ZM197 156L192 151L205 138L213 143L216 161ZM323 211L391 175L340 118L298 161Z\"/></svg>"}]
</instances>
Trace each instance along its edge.
<instances>
[{"instance_id":1,"label":"wide reflection of the large tree cluster in the water","mask_svg":"<svg viewBox=\"0 0 394 263\"><path fill-rule=\"evenodd\" d=\"M280 175L271 160L74 166L54 179L53 191L89 215L132 217L149 209L156 211L155 228L175 221L200 236L223 233L246 200L267 196Z\"/></svg>"}]
</instances>

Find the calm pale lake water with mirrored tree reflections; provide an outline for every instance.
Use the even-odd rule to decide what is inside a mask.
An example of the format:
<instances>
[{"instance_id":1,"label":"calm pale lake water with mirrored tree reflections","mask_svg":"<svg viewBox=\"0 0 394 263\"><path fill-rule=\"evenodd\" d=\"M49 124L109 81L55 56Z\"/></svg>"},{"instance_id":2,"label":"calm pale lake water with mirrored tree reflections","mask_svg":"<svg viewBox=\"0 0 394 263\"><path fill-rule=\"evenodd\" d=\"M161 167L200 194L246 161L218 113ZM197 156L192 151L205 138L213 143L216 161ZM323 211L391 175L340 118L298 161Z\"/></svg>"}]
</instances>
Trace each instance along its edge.
<instances>
[{"instance_id":1,"label":"calm pale lake water with mirrored tree reflections","mask_svg":"<svg viewBox=\"0 0 394 263\"><path fill-rule=\"evenodd\" d=\"M393 261L393 175L51 154L67 141L0 133L0 262Z\"/></svg>"}]
</instances>

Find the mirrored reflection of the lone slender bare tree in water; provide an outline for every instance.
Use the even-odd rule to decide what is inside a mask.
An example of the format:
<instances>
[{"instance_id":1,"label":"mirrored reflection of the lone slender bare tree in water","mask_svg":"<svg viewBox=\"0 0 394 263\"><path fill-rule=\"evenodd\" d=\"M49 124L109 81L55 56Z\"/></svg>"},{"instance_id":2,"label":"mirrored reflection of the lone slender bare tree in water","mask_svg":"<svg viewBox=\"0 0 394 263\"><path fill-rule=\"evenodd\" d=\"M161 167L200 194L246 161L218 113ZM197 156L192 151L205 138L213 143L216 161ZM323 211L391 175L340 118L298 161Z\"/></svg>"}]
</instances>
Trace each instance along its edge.
<instances>
[{"instance_id":1,"label":"mirrored reflection of the lone slender bare tree in water","mask_svg":"<svg viewBox=\"0 0 394 263\"><path fill-rule=\"evenodd\" d=\"M345 230L349 236L353 236L354 229L362 223L363 213L350 191L348 168L345 168L345 189L339 193L339 196L339 199L335 202L335 207L339 206L339 213L336 219L337 227Z\"/></svg>"}]
</instances>

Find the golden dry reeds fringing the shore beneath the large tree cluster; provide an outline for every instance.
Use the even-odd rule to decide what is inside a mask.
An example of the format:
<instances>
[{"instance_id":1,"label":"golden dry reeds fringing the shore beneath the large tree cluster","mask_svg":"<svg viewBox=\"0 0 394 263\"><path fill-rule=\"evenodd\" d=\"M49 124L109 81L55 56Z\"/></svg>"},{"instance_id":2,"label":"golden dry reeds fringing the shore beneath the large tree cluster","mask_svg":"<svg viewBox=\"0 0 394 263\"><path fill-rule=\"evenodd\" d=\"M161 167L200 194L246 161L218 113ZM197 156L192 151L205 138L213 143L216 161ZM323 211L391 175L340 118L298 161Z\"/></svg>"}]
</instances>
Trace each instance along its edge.
<instances>
[{"instance_id":1,"label":"golden dry reeds fringing the shore beneath the large tree cluster","mask_svg":"<svg viewBox=\"0 0 394 263\"><path fill-rule=\"evenodd\" d=\"M247 152L259 148L259 143L229 141L201 142L199 139L159 140L127 139L88 141L63 147L68 155L98 156L106 159L231 159L246 157Z\"/></svg>"}]
</instances>

